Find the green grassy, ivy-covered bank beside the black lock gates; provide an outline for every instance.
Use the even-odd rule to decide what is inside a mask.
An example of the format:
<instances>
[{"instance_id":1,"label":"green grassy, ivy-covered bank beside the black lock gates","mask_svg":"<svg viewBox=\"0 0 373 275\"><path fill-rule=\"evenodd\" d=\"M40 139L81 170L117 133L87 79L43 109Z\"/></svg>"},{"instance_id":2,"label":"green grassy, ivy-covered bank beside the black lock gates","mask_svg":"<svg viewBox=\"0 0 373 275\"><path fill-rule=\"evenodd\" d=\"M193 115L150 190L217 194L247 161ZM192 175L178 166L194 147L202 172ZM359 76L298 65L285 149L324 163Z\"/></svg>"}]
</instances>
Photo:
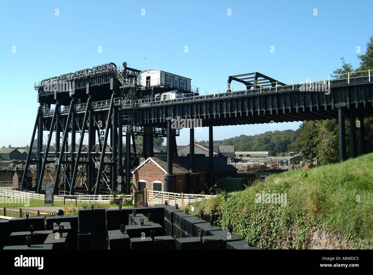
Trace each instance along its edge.
<instances>
[{"instance_id":1,"label":"green grassy, ivy-covered bank beside the black lock gates","mask_svg":"<svg viewBox=\"0 0 373 275\"><path fill-rule=\"evenodd\" d=\"M265 249L371 249L372 183L373 153L272 175L244 191L195 203L194 212L217 208L223 229L230 223L233 234ZM263 190L286 193L286 206L257 203Z\"/></svg>"}]
</instances>

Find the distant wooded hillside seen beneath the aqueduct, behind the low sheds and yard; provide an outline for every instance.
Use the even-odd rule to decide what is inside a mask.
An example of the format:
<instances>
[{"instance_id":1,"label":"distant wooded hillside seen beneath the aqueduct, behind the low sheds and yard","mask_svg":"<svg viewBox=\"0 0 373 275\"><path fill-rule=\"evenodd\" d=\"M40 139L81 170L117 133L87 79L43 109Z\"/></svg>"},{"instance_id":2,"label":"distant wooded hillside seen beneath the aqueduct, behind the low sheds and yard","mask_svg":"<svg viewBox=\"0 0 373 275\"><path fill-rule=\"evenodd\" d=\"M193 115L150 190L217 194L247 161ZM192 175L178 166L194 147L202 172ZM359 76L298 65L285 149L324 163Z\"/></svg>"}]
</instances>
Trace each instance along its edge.
<instances>
[{"instance_id":1,"label":"distant wooded hillside seen beneath the aqueduct, behind the low sheds and yard","mask_svg":"<svg viewBox=\"0 0 373 275\"><path fill-rule=\"evenodd\" d=\"M287 151L293 151L297 133L298 130L277 130L254 136L241 135L224 140L214 140L214 146L234 145L235 151L270 151L272 156L279 157L280 155L284 156ZM197 143L206 146L206 143L209 142L202 140Z\"/></svg>"}]
</instances>

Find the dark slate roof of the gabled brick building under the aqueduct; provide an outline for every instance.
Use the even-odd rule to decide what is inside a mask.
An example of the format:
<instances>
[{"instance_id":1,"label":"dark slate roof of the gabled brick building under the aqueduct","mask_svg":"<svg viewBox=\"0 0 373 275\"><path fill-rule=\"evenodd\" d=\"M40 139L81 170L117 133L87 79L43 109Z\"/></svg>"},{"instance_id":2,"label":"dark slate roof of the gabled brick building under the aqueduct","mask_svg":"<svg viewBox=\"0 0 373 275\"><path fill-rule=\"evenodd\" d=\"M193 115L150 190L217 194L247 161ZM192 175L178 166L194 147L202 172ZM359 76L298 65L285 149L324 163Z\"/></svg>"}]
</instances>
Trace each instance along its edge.
<instances>
[{"instance_id":1,"label":"dark slate roof of the gabled brick building under the aqueduct","mask_svg":"<svg viewBox=\"0 0 373 275\"><path fill-rule=\"evenodd\" d=\"M156 164L158 164L164 171L167 171L167 158L166 157L151 157ZM146 163L147 161L145 161ZM141 165L140 165L141 166ZM138 166L135 170L140 168ZM209 158L208 157L196 157L194 158L194 171L195 173L208 172L209 171ZM173 174L184 174L189 173L190 158L189 157L173 157L172 158L172 173ZM135 171L134 170L134 171ZM233 165L227 164L225 158L214 157L214 172L223 171L238 171Z\"/></svg>"}]
</instances>

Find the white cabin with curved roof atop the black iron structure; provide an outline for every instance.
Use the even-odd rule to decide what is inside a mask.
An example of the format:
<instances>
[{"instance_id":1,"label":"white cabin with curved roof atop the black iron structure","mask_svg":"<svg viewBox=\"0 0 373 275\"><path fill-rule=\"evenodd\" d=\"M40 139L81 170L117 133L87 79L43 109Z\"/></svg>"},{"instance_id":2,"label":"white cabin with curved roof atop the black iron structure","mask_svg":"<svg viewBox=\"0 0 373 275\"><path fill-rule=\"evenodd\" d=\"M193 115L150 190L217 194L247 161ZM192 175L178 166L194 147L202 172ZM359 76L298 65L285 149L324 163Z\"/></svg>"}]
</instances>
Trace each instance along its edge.
<instances>
[{"instance_id":1,"label":"white cabin with curved roof atop the black iron structure","mask_svg":"<svg viewBox=\"0 0 373 275\"><path fill-rule=\"evenodd\" d=\"M138 85L146 87L164 86L177 90L191 91L190 78L163 72L161 70L144 70L137 75Z\"/></svg>"}]
</instances>

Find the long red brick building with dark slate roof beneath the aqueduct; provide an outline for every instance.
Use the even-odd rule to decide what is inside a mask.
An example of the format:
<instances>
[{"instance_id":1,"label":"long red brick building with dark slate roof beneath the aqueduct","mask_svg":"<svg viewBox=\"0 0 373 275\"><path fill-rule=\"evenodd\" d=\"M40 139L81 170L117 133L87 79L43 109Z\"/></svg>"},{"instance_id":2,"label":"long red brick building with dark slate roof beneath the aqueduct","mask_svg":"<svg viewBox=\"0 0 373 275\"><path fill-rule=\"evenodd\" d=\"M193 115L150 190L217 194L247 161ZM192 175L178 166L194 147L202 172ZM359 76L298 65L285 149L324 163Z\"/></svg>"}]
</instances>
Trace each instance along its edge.
<instances>
[{"instance_id":1,"label":"long red brick building with dark slate roof beneath the aqueduct","mask_svg":"<svg viewBox=\"0 0 373 275\"><path fill-rule=\"evenodd\" d=\"M209 171L208 157L195 157L195 173L198 174L198 182L191 183L189 189L193 193L198 194L201 191L207 192L207 179ZM172 173L176 176L175 186L170 192L186 193L187 180L190 167L189 157L174 157L172 158ZM167 158L166 157L150 157L147 158L132 172L133 174L133 189L134 191L148 190L164 191L163 176L167 173ZM236 177L237 169L231 164L227 164L224 158L214 158L214 182L222 177Z\"/></svg>"}]
</instances>

